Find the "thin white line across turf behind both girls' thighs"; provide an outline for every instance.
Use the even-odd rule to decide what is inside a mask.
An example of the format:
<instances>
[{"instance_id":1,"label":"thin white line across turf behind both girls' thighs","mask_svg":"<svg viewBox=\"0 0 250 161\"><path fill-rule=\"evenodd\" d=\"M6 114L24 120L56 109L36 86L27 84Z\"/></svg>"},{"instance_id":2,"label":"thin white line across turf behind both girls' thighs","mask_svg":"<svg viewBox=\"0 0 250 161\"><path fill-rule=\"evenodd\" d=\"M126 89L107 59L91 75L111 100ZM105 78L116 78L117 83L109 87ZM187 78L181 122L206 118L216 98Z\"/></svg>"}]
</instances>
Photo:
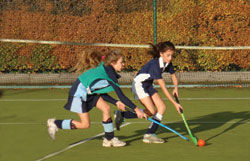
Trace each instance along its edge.
<instances>
[{"instance_id":1,"label":"thin white line across turf behind both girls' thighs","mask_svg":"<svg viewBox=\"0 0 250 161\"><path fill-rule=\"evenodd\" d=\"M163 98L167 100L167 98ZM67 99L0 99L0 102L46 102L46 101L66 101ZM131 99L135 100L135 99ZM192 101L192 100L250 100L250 97L239 98L180 98L180 100Z\"/></svg>"}]
</instances>

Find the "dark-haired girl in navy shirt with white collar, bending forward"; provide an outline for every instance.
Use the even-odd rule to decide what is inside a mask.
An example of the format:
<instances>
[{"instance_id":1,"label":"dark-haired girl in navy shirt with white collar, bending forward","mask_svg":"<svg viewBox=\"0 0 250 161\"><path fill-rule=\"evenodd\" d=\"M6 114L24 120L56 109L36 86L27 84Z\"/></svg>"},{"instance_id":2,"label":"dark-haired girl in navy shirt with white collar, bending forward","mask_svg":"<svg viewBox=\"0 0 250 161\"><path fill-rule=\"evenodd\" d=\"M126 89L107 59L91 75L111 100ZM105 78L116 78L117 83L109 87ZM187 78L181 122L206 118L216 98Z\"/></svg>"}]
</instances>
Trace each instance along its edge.
<instances>
[{"instance_id":1,"label":"dark-haired girl in navy shirt with white collar, bending forward","mask_svg":"<svg viewBox=\"0 0 250 161\"><path fill-rule=\"evenodd\" d=\"M157 90L153 87L153 82L156 81L160 88L162 89L165 96L168 100L175 106L176 110L180 113L182 107L180 104L176 103L172 96L169 94L166 84L163 80L162 73L168 72L171 74L172 81L174 84L173 95L178 96L178 81L175 75L175 70L172 65L172 59L175 52L175 46L169 42L160 42L157 45L152 45L152 50L148 53L153 56L147 64L145 64L141 70L135 76L132 83L132 91L136 99L139 99L140 102L144 105L144 112L148 116L153 116L153 119L160 122L166 111L166 105L161 99ZM132 112L126 111L115 111L115 122L117 129L119 129L120 124L125 118L136 118ZM158 138L155 133L158 128L158 125L151 123L149 129L143 137L143 142L145 143L163 143L164 140Z\"/></svg>"}]
</instances>

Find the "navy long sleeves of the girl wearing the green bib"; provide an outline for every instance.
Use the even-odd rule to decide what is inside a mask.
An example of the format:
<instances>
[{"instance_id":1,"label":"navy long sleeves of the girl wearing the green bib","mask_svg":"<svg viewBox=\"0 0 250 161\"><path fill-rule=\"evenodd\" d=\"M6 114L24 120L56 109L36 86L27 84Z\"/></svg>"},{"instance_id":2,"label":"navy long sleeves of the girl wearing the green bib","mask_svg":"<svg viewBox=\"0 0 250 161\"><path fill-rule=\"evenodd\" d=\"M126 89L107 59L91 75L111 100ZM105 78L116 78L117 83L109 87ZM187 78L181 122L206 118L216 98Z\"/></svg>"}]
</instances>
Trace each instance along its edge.
<instances>
[{"instance_id":1,"label":"navy long sleeves of the girl wearing the green bib","mask_svg":"<svg viewBox=\"0 0 250 161\"><path fill-rule=\"evenodd\" d=\"M104 69L106 71L106 73L108 74L109 78L111 78L115 83L118 83L118 79L121 77L119 74L116 73L115 69L112 66L104 66ZM117 94L117 96L119 97L119 99L128 107L135 109L136 105L130 101L130 99L128 99L128 97L126 97L122 90L120 89L120 87L118 87L117 85L115 85L113 82L108 81L109 84L114 88L115 93ZM111 96L109 96L108 94L102 94L101 95L102 98L107 101L110 102L112 104L115 105L115 103L117 102L117 100L115 100L114 98L112 98Z\"/></svg>"}]
</instances>

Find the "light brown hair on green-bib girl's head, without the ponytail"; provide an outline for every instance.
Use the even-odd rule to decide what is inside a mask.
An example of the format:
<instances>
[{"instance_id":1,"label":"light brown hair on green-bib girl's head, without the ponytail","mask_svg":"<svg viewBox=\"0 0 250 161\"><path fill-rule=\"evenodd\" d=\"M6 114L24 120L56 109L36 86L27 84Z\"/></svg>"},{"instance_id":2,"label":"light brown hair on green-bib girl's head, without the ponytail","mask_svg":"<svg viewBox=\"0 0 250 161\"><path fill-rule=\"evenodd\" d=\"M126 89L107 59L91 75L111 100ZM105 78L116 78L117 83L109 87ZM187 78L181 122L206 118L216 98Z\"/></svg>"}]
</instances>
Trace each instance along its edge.
<instances>
[{"instance_id":1,"label":"light brown hair on green-bib girl's head, without the ponytail","mask_svg":"<svg viewBox=\"0 0 250 161\"><path fill-rule=\"evenodd\" d=\"M116 63L121 57L123 57L121 50L112 50L105 56L104 65L108 66L111 63Z\"/></svg>"}]
</instances>

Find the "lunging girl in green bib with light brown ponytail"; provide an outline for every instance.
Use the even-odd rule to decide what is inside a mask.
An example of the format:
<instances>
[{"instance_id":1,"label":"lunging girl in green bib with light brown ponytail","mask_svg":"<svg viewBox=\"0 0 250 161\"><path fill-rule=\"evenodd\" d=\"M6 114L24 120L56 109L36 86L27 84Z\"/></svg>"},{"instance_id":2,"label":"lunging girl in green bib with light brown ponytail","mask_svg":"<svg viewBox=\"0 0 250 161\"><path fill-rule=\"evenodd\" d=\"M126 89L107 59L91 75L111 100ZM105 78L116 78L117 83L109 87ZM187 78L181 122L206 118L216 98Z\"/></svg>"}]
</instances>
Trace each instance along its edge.
<instances>
[{"instance_id":1,"label":"lunging girl in green bib with light brown ponytail","mask_svg":"<svg viewBox=\"0 0 250 161\"><path fill-rule=\"evenodd\" d=\"M85 69L78 77L69 91L68 102L65 109L77 113L78 120L48 119L48 132L52 139L59 129L87 129L90 126L89 111L97 107L102 111L102 125L104 127L104 147L120 147L126 143L114 137L113 122L110 115L110 106L107 102L116 105L120 110L125 110L125 105L136 111L139 118L145 117L142 111L136 107L121 91L118 84L120 77L116 71L121 71L124 63L122 53L118 50L111 51L104 60L97 51L86 50L80 53L78 63L73 68L77 72ZM121 101L115 100L107 93L115 91ZM107 102L106 102L107 101Z\"/></svg>"}]
</instances>

